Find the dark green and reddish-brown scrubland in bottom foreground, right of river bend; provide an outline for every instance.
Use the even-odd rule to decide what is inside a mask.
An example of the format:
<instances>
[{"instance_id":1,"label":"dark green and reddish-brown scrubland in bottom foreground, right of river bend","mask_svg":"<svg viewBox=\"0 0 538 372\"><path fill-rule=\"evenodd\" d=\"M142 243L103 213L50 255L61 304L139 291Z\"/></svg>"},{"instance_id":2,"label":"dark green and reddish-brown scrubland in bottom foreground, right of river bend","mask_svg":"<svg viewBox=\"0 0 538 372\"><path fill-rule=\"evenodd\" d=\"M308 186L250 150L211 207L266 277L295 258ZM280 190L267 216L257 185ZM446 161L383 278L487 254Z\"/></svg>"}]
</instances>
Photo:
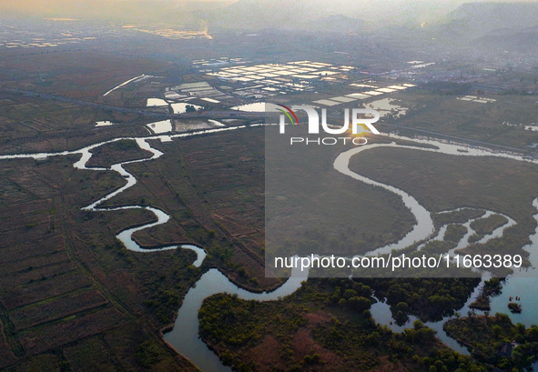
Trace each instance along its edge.
<instances>
[{"instance_id":1,"label":"dark green and reddish-brown scrubland in bottom foreground, right of river bend","mask_svg":"<svg viewBox=\"0 0 538 372\"><path fill-rule=\"evenodd\" d=\"M371 293L362 281L325 278L279 301L215 295L198 314L200 336L239 371L486 370L420 320L401 334L376 324Z\"/></svg>"}]
</instances>

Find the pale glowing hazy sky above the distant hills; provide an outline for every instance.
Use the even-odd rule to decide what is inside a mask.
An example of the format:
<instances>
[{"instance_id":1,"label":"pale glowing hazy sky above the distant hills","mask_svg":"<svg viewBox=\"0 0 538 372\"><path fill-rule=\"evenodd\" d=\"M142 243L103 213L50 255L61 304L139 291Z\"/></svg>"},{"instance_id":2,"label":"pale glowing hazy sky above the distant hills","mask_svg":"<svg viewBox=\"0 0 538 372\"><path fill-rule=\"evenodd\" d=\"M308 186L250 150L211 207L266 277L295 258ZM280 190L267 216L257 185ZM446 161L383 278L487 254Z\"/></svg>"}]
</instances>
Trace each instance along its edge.
<instances>
[{"instance_id":1,"label":"pale glowing hazy sky above the distant hills","mask_svg":"<svg viewBox=\"0 0 538 372\"><path fill-rule=\"evenodd\" d=\"M458 6L465 3L533 3L537 0L335 0L330 3L320 0L4 0L0 12L6 15L32 15L42 17L73 17L80 19L102 19L107 21L133 22L184 22L215 9L228 7L266 7L269 15L275 6L285 9L291 19L301 19L301 13L322 16L345 15L367 21L370 25L424 25L440 22ZM227 9L227 10L228 10ZM170 13L171 12L171 13ZM322 12L322 13L320 13ZM307 18L308 19L308 18ZM238 21L240 27L240 22Z\"/></svg>"}]
</instances>

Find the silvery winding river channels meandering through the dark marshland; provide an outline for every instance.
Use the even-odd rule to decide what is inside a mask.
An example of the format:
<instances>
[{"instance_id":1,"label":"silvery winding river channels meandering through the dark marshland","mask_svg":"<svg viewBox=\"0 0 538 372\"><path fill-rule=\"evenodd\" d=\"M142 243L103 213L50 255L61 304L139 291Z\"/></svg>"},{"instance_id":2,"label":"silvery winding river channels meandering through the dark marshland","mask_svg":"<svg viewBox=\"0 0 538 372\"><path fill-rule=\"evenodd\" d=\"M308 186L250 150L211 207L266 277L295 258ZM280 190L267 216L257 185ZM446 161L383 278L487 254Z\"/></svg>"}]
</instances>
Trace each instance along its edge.
<instances>
[{"instance_id":1,"label":"silvery winding river channels meandering through the dark marshland","mask_svg":"<svg viewBox=\"0 0 538 372\"><path fill-rule=\"evenodd\" d=\"M261 125L257 125L257 126L261 126ZM132 164L132 163L151 161L163 155L162 152L151 147L148 144L147 140L169 141L170 138L208 135L211 133L238 130L238 129L242 129L246 127L247 126L219 127L215 129L208 129L208 130L202 130L198 132L191 132L191 133L171 135L171 136L120 137L120 138L115 138L108 141L104 141L101 143L97 143L94 145L86 146L84 148L81 148L75 151L63 151L63 152L57 152L57 153L41 153L41 154L7 155L7 156L0 156L0 160L17 159L17 158L43 159L48 156L67 156L67 155L79 154L81 155L81 158L74 164L74 166L78 169L98 170L98 171L111 170L111 171L117 172L119 175L123 176L124 179L126 179L127 181L126 185L121 186L116 191L111 192L107 194L106 196L101 197L100 199L96 200L95 202L91 203L88 206L83 206L81 209L88 210L88 211L113 211L113 210L118 210L118 209L146 209L147 211L153 213L157 217L156 222L152 222L143 226L127 228L121 231L119 234L117 234L117 238L127 247L127 249L135 251L135 252L143 252L146 254L150 252L154 252L156 250L167 250L167 249L178 249L178 248L190 249L197 253L197 259L193 263L193 265L200 266L206 256L206 252L204 252L204 250L198 246L191 246L191 245L160 246L155 249L145 249L141 246L138 246L137 242L132 238L133 233L137 231L167 223L170 216L168 216L166 212L152 206L99 207L99 205L111 199L112 197L117 196L123 191L127 190L127 188L136 185L137 183L136 177L128 173L127 170L125 170L123 166L127 164ZM393 249L398 250L421 240L427 240L427 241L442 240L442 236L444 235L446 226L442 226L441 229L438 231L438 233L435 234L430 211L428 211L424 206L421 206L420 203L414 197L405 193L401 189L391 186L391 185L382 184L381 182L374 181L366 176L361 176L355 172L352 172L349 167L350 159L352 156L357 156L362 151L367 151L369 149L376 148L376 147L401 147L401 148L409 148L412 150L436 152L436 153L441 153L445 155L453 155L453 156L499 156L499 157L511 158L513 160L527 161L527 162L532 162L534 164L538 164L538 161L524 159L522 156L513 156L513 155L508 155L508 154L495 153L495 152L488 151L485 149L446 144L446 143L432 141L432 140L424 140L424 139L421 140L421 139L399 137L399 136L393 136L393 137L395 139L401 138L401 139L413 141L419 144L433 145L433 146L437 146L438 148L434 149L434 148L416 147L416 146L401 146L401 145L396 145L394 143L358 146L358 147L353 147L352 149L341 153L340 156L338 156L336 160L334 161L334 169L336 171L346 176L350 176L360 182L364 182L373 186L381 186L385 188L386 190L401 196L404 205L407 206L411 210L411 213L413 214L413 216L415 217L417 221L416 225L413 226L411 232L409 232L406 236L404 236L399 242L391 244L391 245L387 245L387 246L382 246L381 248L378 248L368 253L369 255L379 255L383 253L388 253L388 252L391 252ZM116 142L119 140L123 140L123 139L136 141L137 146L139 146L141 149L149 151L152 154L152 156L145 159L137 159L137 160L131 160L131 161L126 161L122 163L117 163L113 166L110 166L110 168L86 166L87 161L92 156L90 152L91 149L96 148L98 146L103 146L112 142ZM538 198L534 199L533 206L536 209L538 209ZM450 211L447 211L447 212L450 212ZM483 210L483 212L484 212L484 215L482 215L481 217L491 216L493 213L495 213L488 210ZM497 229L495 229L492 232L492 234L482 237L482 240L480 241L481 243L493 237L502 236L502 233L506 227L513 226L513 224L515 224L515 221L513 221L512 218L510 218L509 216L505 216L505 217L507 218L508 222L504 224L503 226L500 226ZM534 218L538 222L538 213L534 215ZM470 226L471 222L472 222L472 219L467 221L465 224L462 224L463 226L466 226L469 231L465 236L462 237L462 239L458 243L458 246L456 246L456 248L451 250L451 253L453 253L455 249L466 246L468 244L468 238L473 233L472 228ZM536 322L535 315L538 314L538 278L535 277L537 276L538 273L534 271L535 267L538 267L538 252L536 252L536 247L538 247L538 227L536 229L536 232L533 234L533 236L530 236L530 239L532 243L529 244L528 246L524 246L523 249L527 250L530 253L530 262L532 265L531 268L516 271L513 274L513 276L510 276L503 285L502 295L498 297L493 297L492 304L491 304L492 314L494 314L495 312L505 313L507 310L506 303L508 302L508 297L510 296L522 297L523 312L521 314L509 314L509 316L513 319L514 323L521 322L527 327ZM420 248L421 246L419 246L419 249ZM487 273L484 273L482 275L481 286L483 284L483 280L487 279L488 277L489 276ZM202 301L204 300L204 298L217 294L217 293L229 293L229 294L236 294L238 295L239 298L244 298L244 299L253 299L253 300L259 300L259 301L276 300L279 297L285 297L295 292L300 287L300 283L303 280L306 280L307 278L308 278L308 271L304 271L302 273L299 270L292 271L291 277L278 289L272 292L252 293L252 292L249 292L248 290L237 287L235 284L229 281L227 276L224 276L217 269L209 269L206 273L204 273L198 279L195 285L193 285L193 287L191 287L188 290L188 293L183 300L183 304L178 310L178 318L176 320L175 326L169 333L165 335L165 339L170 345L175 347L179 353L181 353L185 357L188 357L188 359L190 359L196 366L198 366L203 371L206 371L206 372L230 371L231 369L229 367L223 366L220 360L218 359L218 357L198 337L198 310L201 307ZM469 297L465 306L458 310L462 315L466 315L467 311L469 310L469 305L472 303L474 298L478 296L478 294L480 293L481 286L475 288L472 296ZM390 327L392 330L396 332L401 332L405 327L411 327L412 321L415 320L415 317L410 317L410 320L408 321L408 323L406 323L405 325L401 327L397 326L391 317L390 307L386 303L384 303L382 300L372 305L371 313L378 323L382 325L386 325L387 327ZM442 325L450 318L451 317L444 317L441 321L428 322L426 323L426 325L428 327L435 329L437 331L437 336L440 337L442 341L445 344L447 344L449 347L452 347L455 350L460 351L464 354L469 354L464 347L461 347L455 340L453 340L451 337L448 337L445 334L445 332L442 330Z\"/></svg>"}]
</instances>

